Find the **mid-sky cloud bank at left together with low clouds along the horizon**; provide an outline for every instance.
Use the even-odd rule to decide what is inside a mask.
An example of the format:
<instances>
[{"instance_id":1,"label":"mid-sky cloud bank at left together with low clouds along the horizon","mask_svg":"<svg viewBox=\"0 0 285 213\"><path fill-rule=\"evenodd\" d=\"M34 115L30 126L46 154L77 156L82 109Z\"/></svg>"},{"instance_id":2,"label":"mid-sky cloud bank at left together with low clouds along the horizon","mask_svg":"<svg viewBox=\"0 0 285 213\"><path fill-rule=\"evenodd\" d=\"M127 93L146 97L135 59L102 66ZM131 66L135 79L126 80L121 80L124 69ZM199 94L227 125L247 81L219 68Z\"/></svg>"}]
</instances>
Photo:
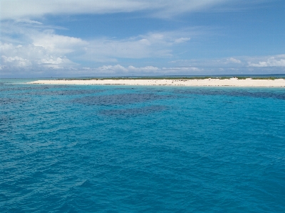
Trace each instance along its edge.
<instances>
[{"instance_id":1,"label":"mid-sky cloud bank at left together with low clouds along the horizon","mask_svg":"<svg viewBox=\"0 0 285 213\"><path fill-rule=\"evenodd\" d=\"M271 73L285 72L285 55L173 60L177 57L177 47L187 47L192 42L193 28L90 40L59 35L53 28L47 29L34 21L7 21L2 29L0 75L3 77L218 75L257 73L261 68ZM146 59L151 62L133 63ZM153 65L155 59L165 62ZM130 62L122 65L124 60Z\"/></svg>"}]
</instances>

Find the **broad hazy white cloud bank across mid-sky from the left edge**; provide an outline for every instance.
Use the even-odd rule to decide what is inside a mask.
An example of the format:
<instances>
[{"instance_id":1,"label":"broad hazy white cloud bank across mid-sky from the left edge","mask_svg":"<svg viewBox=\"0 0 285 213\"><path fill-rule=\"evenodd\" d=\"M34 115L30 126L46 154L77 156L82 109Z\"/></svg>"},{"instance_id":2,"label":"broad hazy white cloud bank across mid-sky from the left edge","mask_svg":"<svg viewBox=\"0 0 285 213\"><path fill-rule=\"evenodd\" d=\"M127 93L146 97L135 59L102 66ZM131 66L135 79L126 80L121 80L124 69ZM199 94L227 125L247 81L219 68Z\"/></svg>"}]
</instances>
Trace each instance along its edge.
<instances>
[{"instance_id":1,"label":"broad hazy white cloud bank across mid-sky from the left edge","mask_svg":"<svg viewBox=\"0 0 285 213\"><path fill-rule=\"evenodd\" d=\"M130 38L83 40L58 35L39 23L6 21L1 37L1 65L13 67L75 66L78 62L118 62L122 58L171 58L172 50L190 40L189 31L150 32ZM15 36L17 35L17 36ZM11 39L14 37L14 39Z\"/></svg>"}]
</instances>

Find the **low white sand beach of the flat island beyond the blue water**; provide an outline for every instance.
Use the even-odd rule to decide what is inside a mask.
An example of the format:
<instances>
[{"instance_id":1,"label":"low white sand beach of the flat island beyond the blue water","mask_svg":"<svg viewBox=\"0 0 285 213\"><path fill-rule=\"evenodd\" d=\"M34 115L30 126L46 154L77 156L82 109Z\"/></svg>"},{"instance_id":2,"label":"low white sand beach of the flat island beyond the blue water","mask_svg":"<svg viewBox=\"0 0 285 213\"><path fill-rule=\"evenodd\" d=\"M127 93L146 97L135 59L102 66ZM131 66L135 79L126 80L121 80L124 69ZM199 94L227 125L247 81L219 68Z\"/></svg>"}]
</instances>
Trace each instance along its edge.
<instances>
[{"instance_id":1,"label":"low white sand beach of the flat island beyond the blue water","mask_svg":"<svg viewBox=\"0 0 285 213\"><path fill-rule=\"evenodd\" d=\"M120 84L120 85L166 85L166 86L186 86L186 87L285 87L284 79L277 80L238 80L231 79L203 79L203 80L38 80L28 82L28 84Z\"/></svg>"}]
</instances>

